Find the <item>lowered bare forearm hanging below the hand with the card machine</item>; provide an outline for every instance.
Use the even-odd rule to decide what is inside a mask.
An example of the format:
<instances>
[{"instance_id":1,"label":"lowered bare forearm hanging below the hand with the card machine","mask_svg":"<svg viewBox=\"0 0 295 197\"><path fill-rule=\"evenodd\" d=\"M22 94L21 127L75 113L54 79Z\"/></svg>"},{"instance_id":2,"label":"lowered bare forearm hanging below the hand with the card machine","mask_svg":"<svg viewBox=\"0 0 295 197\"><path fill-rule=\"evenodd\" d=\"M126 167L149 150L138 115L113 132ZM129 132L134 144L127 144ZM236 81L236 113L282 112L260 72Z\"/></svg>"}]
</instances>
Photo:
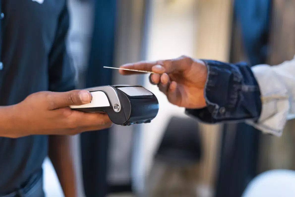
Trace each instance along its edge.
<instances>
[{"instance_id":1,"label":"lowered bare forearm hanging below the hand with the card machine","mask_svg":"<svg viewBox=\"0 0 295 197\"><path fill-rule=\"evenodd\" d=\"M76 197L78 185L73 152L71 151L71 136L50 136L48 155L58 175L65 197Z\"/></svg>"}]
</instances>

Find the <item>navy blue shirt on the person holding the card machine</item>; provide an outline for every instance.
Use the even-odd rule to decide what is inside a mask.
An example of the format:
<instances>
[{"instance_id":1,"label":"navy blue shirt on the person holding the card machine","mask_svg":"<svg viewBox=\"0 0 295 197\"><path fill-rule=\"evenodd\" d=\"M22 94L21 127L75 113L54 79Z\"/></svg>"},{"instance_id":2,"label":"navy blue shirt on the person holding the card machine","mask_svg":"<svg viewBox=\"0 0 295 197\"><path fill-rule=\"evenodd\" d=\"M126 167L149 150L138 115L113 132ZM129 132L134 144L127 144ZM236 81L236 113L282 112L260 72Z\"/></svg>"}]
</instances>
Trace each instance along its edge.
<instances>
[{"instance_id":1,"label":"navy blue shirt on the person holding the card machine","mask_svg":"<svg viewBox=\"0 0 295 197\"><path fill-rule=\"evenodd\" d=\"M0 106L28 95L74 89L74 69L66 52L69 16L65 0L2 0ZM40 172L48 136L0 137L0 194L20 188Z\"/></svg>"}]
</instances>

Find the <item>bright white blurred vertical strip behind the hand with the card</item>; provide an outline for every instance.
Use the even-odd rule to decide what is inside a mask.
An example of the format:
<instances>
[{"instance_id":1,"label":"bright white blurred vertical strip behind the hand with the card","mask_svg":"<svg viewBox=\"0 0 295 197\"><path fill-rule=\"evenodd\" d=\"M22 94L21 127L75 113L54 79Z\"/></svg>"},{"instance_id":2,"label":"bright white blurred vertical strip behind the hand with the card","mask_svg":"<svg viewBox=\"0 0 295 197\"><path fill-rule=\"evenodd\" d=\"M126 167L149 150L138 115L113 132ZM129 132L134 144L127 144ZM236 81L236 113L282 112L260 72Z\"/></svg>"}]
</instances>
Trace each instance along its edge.
<instances>
[{"instance_id":1,"label":"bright white blurred vertical strip behind the hand with the card","mask_svg":"<svg viewBox=\"0 0 295 197\"><path fill-rule=\"evenodd\" d=\"M152 16L148 32L148 60L194 56L194 0L153 0ZM151 85L148 75L145 88L153 92L159 101L159 113L149 124L143 125L143 155L145 175L148 175L153 156L169 119L173 115L185 116L184 108L168 102L158 87Z\"/></svg>"}]
</instances>

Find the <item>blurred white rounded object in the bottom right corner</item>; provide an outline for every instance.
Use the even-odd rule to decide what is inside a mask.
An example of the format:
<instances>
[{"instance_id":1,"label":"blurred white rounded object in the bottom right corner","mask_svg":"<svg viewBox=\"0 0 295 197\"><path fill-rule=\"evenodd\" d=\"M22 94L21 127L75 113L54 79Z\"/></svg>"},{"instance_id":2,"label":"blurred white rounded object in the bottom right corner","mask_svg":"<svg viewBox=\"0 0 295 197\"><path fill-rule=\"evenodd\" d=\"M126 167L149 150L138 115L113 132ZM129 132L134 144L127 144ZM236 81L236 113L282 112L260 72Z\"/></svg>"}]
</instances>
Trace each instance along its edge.
<instances>
[{"instance_id":1,"label":"blurred white rounded object in the bottom right corner","mask_svg":"<svg viewBox=\"0 0 295 197\"><path fill-rule=\"evenodd\" d=\"M242 197L294 197L295 171L270 170L254 178Z\"/></svg>"}]
</instances>

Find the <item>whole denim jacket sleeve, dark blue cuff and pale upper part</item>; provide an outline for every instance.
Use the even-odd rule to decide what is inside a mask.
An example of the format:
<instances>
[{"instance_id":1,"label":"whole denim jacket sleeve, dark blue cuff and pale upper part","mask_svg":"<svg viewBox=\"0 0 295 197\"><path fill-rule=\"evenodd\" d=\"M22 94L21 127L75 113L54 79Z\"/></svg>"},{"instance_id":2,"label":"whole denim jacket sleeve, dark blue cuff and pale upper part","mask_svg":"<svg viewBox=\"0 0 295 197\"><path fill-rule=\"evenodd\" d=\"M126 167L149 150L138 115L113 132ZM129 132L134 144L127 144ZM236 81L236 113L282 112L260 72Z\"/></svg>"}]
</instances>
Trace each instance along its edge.
<instances>
[{"instance_id":1,"label":"whole denim jacket sleeve, dark blue cuff and pale upper part","mask_svg":"<svg viewBox=\"0 0 295 197\"><path fill-rule=\"evenodd\" d=\"M295 57L277 66L228 64L203 60L208 67L204 95L207 107L186 109L205 123L245 121L281 136L288 119L295 118Z\"/></svg>"}]
</instances>

